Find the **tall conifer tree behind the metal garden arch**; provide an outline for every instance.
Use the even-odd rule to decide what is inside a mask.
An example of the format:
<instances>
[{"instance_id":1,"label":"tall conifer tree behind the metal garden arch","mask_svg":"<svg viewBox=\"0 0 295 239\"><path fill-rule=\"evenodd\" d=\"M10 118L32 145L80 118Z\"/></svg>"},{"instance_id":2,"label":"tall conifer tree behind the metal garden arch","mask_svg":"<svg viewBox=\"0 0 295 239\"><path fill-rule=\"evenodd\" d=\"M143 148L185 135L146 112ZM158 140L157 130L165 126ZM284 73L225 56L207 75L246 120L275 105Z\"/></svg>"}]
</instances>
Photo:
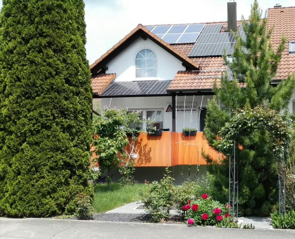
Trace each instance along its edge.
<instances>
[{"instance_id":1,"label":"tall conifer tree behind the metal garden arch","mask_svg":"<svg viewBox=\"0 0 295 239\"><path fill-rule=\"evenodd\" d=\"M257 0L251 6L249 21L243 19L242 25L246 38L238 35L232 53L232 63L224 60L233 72L234 80L228 80L225 74L221 78L221 86L215 83L213 91L219 100L231 108L254 108L257 105L268 105L270 109L281 111L288 107L295 85L294 76L283 79L277 86L270 83L274 79L278 63L286 45L286 38L276 46L270 43L273 28L267 29L267 18L262 16ZM208 101L206 126L204 133L209 144L216 145L216 135L222 126L231 118L231 114L220 109L216 97ZM239 161L239 209L245 215L267 215L271 206L276 203L277 196L277 159L265 152L268 134L264 130L255 129L247 137L238 139L243 150L238 150ZM205 156L205 155L204 155ZM206 157L206 156L205 156ZM207 156L208 162L210 158ZM218 191L216 199L228 199L228 159L221 164L212 162L208 166L210 179Z\"/></svg>"}]
</instances>

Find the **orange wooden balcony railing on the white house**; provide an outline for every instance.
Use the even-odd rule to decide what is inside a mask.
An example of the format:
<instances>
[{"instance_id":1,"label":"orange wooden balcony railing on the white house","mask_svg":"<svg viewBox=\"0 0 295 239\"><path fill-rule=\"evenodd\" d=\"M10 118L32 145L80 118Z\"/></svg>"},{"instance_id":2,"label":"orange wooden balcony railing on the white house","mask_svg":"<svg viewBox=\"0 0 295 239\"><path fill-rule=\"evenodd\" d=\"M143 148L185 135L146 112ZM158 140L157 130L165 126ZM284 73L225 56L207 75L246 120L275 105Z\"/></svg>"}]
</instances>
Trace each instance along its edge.
<instances>
[{"instance_id":1,"label":"orange wooden balcony railing on the white house","mask_svg":"<svg viewBox=\"0 0 295 239\"><path fill-rule=\"evenodd\" d=\"M183 136L182 132L171 131L164 131L161 136L140 133L135 148L137 167L205 165L202 149L216 162L220 157L219 152L208 145L203 132L197 132L196 136Z\"/></svg>"}]
</instances>

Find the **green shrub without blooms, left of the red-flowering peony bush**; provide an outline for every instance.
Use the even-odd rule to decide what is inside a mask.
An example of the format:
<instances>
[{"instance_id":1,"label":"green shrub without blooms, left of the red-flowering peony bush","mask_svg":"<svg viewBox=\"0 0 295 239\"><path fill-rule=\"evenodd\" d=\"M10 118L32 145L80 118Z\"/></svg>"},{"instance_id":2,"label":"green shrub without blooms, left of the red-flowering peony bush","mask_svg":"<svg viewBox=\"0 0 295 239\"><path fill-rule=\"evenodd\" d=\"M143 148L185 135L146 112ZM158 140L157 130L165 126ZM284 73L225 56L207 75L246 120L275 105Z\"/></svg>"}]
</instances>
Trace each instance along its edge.
<instances>
[{"instance_id":1,"label":"green shrub without blooms, left of the red-flowering peony bush","mask_svg":"<svg viewBox=\"0 0 295 239\"><path fill-rule=\"evenodd\" d=\"M174 204L174 186L170 171L166 168L166 174L158 183L152 182L146 193L141 193L141 202L145 209L151 214L154 223L169 218L171 206Z\"/></svg>"}]
</instances>

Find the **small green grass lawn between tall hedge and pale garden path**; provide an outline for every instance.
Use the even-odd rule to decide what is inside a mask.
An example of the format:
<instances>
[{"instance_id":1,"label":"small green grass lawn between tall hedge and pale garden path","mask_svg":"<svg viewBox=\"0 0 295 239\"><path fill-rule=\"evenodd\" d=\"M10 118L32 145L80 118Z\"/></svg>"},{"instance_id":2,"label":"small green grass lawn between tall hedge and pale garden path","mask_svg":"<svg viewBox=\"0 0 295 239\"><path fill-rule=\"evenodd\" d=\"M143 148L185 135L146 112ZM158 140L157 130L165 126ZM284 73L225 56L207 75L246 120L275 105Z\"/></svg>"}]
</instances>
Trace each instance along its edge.
<instances>
[{"instance_id":1,"label":"small green grass lawn between tall hedge and pale garden path","mask_svg":"<svg viewBox=\"0 0 295 239\"><path fill-rule=\"evenodd\" d=\"M132 186L121 187L118 183L111 183L108 191L106 183L97 183L92 206L97 213L104 213L140 200L140 190L146 191L147 185L136 183Z\"/></svg>"}]
</instances>

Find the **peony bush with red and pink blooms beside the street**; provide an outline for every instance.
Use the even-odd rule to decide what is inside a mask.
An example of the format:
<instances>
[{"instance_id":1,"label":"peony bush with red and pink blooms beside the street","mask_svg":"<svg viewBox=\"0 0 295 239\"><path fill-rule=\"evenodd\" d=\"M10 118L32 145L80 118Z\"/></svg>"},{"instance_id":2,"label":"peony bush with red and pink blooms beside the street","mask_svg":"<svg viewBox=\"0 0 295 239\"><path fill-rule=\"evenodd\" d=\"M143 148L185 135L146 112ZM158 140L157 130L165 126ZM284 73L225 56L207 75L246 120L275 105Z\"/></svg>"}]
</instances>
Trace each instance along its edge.
<instances>
[{"instance_id":1,"label":"peony bush with red and pink blooms beside the street","mask_svg":"<svg viewBox=\"0 0 295 239\"><path fill-rule=\"evenodd\" d=\"M188 224L197 226L216 225L223 219L228 220L230 215L227 213L227 208L218 201L212 200L207 194L203 194L201 198L187 202L182 209Z\"/></svg>"}]
</instances>

